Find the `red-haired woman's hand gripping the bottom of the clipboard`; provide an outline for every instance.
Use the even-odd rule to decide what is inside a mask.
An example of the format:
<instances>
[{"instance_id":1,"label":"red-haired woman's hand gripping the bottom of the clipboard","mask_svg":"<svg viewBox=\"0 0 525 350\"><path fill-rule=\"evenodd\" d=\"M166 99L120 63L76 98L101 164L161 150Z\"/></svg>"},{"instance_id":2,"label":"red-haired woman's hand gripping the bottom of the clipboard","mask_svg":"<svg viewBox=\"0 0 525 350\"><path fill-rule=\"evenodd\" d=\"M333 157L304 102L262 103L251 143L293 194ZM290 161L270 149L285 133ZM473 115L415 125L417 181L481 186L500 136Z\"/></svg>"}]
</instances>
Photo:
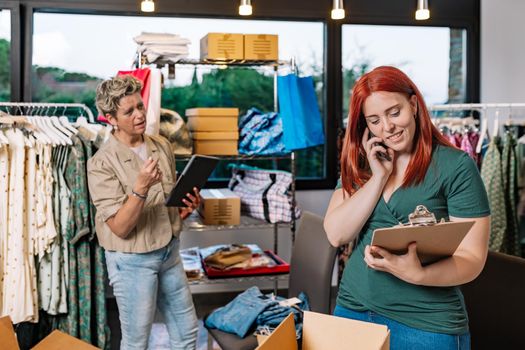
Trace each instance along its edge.
<instances>
[{"instance_id":1,"label":"red-haired woman's hand gripping the bottom of the clipboard","mask_svg":"<svg viewBox=\"0 0 525 350\"><path fill-rule=\"evenodd\" d=\"M408 246L408 252L396 255L378 246L365 247L365 263L368 267L388 272L397 278L412 284L419 284L423 280L425 270L417 256L416 243Z\"/></svg>"}]
</instances>

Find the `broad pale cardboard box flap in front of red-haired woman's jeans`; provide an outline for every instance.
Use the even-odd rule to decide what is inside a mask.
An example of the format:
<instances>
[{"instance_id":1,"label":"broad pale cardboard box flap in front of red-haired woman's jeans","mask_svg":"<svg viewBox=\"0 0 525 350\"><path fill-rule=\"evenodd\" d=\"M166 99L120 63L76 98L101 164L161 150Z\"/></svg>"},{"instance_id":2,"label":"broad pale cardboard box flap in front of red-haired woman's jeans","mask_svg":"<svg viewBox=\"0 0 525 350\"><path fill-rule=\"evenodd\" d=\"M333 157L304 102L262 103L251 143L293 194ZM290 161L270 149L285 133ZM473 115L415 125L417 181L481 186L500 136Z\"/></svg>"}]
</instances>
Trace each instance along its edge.
<instances>
[{"instance_id":1,"label":"broad pale cardboard box flap in front of red-haired woman's jeans","mask_svg":"<svg viewBox=\"0 0 525 350\"><path fill-rule=\"evenodd\" d=\"M341 344L360 350L387 350L387 326L305 311L303 350L338 349Z\"/></svg>"}]
</instances>

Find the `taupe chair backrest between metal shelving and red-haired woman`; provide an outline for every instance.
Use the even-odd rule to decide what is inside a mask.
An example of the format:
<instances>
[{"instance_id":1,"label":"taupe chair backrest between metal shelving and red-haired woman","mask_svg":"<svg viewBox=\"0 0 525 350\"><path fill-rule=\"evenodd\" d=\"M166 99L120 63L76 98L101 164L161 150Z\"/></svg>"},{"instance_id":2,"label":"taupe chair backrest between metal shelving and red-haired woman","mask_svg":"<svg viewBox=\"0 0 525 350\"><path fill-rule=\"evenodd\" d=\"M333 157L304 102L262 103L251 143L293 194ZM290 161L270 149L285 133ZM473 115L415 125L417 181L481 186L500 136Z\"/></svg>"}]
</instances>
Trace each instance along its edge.
<instances>
[{"instance_id":1,"label":"taupe chair backrest between metal shelving and red-haired woman","mask_svg":"<svg viewBox=\"0 0 525 350\"><path fill-rule=\"evenodd\" d=\"M330 313L336 252L326 238L323 218L303 211L292 249L288 296L304 292L312 311Z\"/></svg>"}]
</instances>

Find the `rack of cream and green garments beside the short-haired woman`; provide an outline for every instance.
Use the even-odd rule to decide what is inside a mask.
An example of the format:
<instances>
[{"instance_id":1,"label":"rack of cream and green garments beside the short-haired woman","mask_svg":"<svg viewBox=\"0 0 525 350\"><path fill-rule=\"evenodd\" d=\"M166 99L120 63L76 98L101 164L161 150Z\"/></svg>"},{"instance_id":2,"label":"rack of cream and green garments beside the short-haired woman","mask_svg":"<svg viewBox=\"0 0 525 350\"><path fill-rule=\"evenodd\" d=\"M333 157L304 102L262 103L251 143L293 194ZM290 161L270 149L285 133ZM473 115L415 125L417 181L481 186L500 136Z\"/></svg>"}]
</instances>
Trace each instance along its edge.
<instances>
[{"instance_id":1,"label":"rack of cream and green garments beside the short-haired woman","mask_svg":"<svg viewBox=\"0 0 525 350\"><path fill-rule=\"evenodd\" d=\"M88 123L83 104L2 102L0 115L0 241L10 247L0 294L12 296L0 314L24 323L22 339L59 329L107 349L104 252L85 169L106 130Z\"/></svg>"}]
</instances>

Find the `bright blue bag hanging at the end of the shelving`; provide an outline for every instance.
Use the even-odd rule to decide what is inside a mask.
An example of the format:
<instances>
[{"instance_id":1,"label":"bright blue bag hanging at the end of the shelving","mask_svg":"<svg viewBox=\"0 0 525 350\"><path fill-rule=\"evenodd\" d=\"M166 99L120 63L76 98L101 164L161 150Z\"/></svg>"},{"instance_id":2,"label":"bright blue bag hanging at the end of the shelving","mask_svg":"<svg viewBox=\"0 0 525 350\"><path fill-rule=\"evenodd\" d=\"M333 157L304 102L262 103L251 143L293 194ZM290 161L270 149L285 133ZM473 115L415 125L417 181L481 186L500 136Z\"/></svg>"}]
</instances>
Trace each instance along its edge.
<instances>
[{"instance_id":1,"label":"bright blue bag hanging at the end of the shelving","mask_svg":"<svg viewBox=\"0 0 525 350\"><path fill-rule=\"evenodd\" d=\"M324 144L323 122L312 77L280 76L277 90L286 149L293 151Z\"/></svg>"}]
</instances>

